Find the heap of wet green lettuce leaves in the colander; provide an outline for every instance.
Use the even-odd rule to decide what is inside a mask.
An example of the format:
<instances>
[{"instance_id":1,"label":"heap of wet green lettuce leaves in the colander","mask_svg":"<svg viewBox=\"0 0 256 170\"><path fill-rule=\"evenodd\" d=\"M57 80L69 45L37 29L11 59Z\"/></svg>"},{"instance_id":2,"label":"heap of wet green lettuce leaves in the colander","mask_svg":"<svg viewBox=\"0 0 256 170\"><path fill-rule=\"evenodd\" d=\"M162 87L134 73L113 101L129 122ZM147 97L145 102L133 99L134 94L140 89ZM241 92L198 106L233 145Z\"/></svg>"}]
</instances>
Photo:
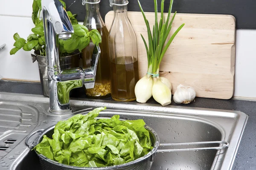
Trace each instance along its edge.
<instances>
[{"instance_id":1,"label":"heap of wet green lettuce leaves in the colander","mask_svg":"<svg viewBox=\"0 0 256 170\"><path fill-rule=\"evenodd\" d=\"M152 150L143 120L120 121L119 115L96 119L106 107L87 115L59 121L52 138L44 135L34 149L61 164L78 167L105 167L124 164Z\"/></svg>"}]
</instances>

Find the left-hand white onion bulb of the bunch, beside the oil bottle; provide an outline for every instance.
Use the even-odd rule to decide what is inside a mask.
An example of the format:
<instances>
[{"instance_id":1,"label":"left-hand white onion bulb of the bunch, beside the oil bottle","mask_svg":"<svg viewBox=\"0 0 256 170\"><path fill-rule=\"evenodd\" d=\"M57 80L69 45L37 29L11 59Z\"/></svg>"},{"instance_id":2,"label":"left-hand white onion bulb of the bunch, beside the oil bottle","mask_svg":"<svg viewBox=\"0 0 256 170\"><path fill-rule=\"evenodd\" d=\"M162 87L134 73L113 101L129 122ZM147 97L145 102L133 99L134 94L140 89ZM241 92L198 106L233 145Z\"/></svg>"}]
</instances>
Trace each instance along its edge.
<instances>
[{"instance_id":1,"label":"left-hand white onion bulb of the bunch, beside the oil bottle","mask_svg":"<svg viewBox=\"0 0 256 170\"><path fill-rule=\"evenodd\" d=\"M146 103L152 96L153 78L148 78L145 75L135 85L135 96L136 101L139 103Z\"/></svg>"}]
</instances>

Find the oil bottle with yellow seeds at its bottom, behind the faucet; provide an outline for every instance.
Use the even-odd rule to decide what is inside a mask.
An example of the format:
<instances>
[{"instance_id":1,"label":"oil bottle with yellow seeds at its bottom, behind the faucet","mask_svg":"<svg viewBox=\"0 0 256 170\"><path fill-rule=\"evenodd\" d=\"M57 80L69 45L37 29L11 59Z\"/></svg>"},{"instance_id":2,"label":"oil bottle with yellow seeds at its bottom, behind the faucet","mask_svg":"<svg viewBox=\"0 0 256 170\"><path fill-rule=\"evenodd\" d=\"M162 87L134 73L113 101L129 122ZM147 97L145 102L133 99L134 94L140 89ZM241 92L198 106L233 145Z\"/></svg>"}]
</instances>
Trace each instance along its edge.
<instances>
[{"instance_id":1,"label":"oil bottle with yellow seeds at its bottom, behind the faucet","mask_svg":"<svg viewBox=\"0 0 256 170\"><path fill-rule=\"evenodd\" d=\"M110 58L108 50L108 29L102 20L99 12L100 0L85 0L86 17L84 26L89 31L97 29L102 36L102 43L99 44L101 54L96 71L96 80L93 89L86 89L86 95L89 98L106 98L111 95L111 79L110 79ZM93 62L92 54L95 45L90 42L89 46L82 50L83 66L91 66Z\"/></svg>"}]
</instances>

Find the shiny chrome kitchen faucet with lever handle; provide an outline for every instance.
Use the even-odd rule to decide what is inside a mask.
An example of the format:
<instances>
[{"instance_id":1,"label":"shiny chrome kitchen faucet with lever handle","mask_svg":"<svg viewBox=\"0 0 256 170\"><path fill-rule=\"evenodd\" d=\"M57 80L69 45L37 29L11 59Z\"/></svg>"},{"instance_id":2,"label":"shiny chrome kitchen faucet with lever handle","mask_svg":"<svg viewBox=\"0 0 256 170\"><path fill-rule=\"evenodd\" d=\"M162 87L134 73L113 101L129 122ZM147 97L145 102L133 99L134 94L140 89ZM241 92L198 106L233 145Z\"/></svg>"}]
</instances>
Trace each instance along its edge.
<instances>
[{"instance_id":1,"label":"shiny chrome kitchen faucet with lever handle","mask_svg":"<svg viewBox=\"0 0 256 170\"><path fill-rule=\"evenodd\" d=\"M49 112L52 115L66 115L71 111L69 93L71 89L85 85L93 88L100 49L95 46L94 64L90 68L60 68L58 38L66 40L74 33L66 10L59 0L42 0L44 35L46 41L47 72L49 81Z\"/></svg>"}]
</instances>

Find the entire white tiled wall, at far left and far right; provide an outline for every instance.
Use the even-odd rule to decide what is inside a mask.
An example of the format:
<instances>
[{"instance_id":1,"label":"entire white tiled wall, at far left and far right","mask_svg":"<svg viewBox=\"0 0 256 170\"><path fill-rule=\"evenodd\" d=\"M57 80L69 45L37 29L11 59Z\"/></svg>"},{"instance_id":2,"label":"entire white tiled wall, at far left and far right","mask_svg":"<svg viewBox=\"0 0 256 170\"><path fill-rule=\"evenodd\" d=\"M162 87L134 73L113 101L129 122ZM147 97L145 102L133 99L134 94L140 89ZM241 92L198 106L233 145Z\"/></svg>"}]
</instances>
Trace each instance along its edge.
<instances>
[{"instance_id":1,"label":"entire white tiled wall, at far left and far right","mask_svg":"<svg viewBox=\"0 0 256 170\"><path fill-rule=\"evenodd\" d=\"M33 28L31 7L33 0L8 0L0 6L0 45L6 48L0 52L0 77L39 81L38 64L32 63L31 52L20 50L9 55L13 48L15 32L28 36ZM10 10L12 9L12 10ZM237 30L236 39L236 87L235 96L256 98L256 30Z\"/></svg>"}]
</instances>

